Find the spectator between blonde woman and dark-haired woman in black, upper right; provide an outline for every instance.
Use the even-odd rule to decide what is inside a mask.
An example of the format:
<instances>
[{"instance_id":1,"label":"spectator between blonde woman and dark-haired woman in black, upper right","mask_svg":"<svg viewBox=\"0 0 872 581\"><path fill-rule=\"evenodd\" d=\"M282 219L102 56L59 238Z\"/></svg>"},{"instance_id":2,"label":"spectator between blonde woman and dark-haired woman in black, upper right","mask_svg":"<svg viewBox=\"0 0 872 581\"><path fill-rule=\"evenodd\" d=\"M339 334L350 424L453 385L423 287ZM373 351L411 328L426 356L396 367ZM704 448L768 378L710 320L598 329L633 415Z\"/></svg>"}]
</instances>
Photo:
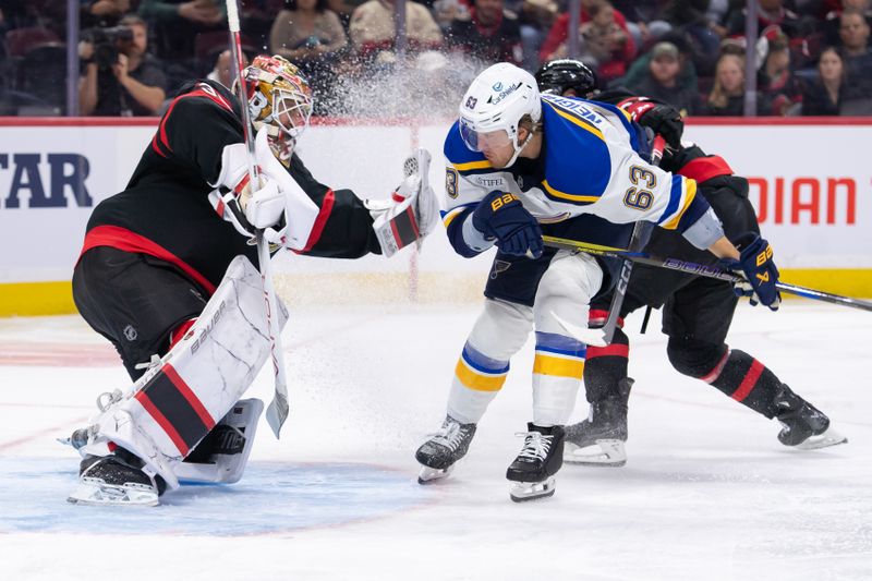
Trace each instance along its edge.
<instances>
[{"instance_id":1,"label":"spectator between blonde woman and dark-haired woman in black, upper right","mask_svg":"<svg viewBox=\"0 0 872 581\"><path fill-rule=\"evenodd\" d=\"M787 36L778 28L764 31L766 56L758 73L760 114L786 116L795 112L802 92L790 66L790 47Z\"/></svg>"}]
</instances>

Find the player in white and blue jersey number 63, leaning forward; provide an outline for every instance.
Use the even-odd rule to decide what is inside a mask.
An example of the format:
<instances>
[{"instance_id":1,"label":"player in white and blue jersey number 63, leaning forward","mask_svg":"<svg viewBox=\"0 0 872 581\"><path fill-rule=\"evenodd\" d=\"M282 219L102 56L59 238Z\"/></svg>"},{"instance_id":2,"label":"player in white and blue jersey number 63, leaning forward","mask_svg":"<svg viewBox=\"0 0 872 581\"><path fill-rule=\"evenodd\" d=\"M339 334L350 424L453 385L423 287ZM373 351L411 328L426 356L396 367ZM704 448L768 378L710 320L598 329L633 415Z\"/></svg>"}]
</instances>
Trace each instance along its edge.
<instances>
[{"instance_id":1,"label":"player in white and blue jersey number 63, leaning forward","mask_svg":"<svg viewBox=\"0 0 872 581\"><path fill-rule=\"evenodd\" d=\"M439 428L415 453L422 484L446 476L506 379L511 356L535 329L533 417L509 465L516 501L550 496L561 465L564 425L574 407L585 346L562 322L584 327L591 300L617 265L545 249L552 235L620 246L645 220L680 232L743 271L760 301L777 307L772 250L741 252L725 237L695 182L646 161L646 134L616 107L542 96L533 76L508 63L481 73L445 141L443 220L456 252L497 246L484 310L458 361Z\"/></svg>"}]
</instances>

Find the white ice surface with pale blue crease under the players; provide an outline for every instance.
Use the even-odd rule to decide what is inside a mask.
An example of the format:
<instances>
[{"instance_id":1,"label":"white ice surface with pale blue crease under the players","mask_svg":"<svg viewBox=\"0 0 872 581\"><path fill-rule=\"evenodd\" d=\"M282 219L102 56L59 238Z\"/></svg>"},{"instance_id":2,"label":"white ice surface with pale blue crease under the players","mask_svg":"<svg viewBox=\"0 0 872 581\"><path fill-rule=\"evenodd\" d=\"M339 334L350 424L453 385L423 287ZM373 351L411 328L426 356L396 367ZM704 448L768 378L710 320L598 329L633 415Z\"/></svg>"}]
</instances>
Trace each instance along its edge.
<instances>
[{"instance_id":1,"label":"white ice surface with pale blue crease under the players","mask_svg":"<svg viewBox=\"0 0 872 581\"><path fill-rule=\"evenodd\" d=\"M631 316L627 465L565 465L553 498L523 505L505 470L530 419L532 343L452 476L415 484L414 449L443 419L476 314L292 312L282 439L262 422L242 482L129 511L68 505L77 455L53 439L126 385L112 349L77 317L0 319L0 579L872 578L872 314L739 307L730 344L850 440L808 452L671 371L656 314L641 337ZM268 401L271 377L253 391Z\"/></svg>"}]
</instances>

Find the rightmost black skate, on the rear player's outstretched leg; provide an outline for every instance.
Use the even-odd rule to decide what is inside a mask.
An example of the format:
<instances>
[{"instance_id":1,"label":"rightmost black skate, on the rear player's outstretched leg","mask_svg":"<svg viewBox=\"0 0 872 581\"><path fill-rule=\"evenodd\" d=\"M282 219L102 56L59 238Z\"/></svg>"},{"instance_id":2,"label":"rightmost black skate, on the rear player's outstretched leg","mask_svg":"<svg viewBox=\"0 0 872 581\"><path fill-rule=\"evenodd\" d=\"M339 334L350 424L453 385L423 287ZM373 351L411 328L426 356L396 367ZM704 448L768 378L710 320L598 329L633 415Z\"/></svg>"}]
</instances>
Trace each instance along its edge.
<instances>
[{"instance_id":1,"label":"rightmost black skate, on the rear player's outstretched leg","mask_svg":"<svg viewBox=\"0 0 872 581\"><path fill-rule=\"evenodd\" d=\"M826 414L786 385L775 397L775 406L778 408L775 419L784 426L778 433L778 441L785 446L815 450L848 443L848 438L829 426Z\"/></svg>"}]
</instances>

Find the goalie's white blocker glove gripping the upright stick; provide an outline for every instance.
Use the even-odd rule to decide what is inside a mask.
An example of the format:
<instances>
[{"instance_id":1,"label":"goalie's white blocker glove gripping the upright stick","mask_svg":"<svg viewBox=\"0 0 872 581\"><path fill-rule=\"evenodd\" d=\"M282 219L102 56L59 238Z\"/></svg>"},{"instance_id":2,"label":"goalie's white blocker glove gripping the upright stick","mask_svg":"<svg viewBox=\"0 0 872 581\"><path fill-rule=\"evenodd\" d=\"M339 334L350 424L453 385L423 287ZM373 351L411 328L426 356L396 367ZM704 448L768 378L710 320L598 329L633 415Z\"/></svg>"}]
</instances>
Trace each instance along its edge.
<instances>
[{"instance_id":1,"label":"goalie's white blocker glove gripping the upright stick","mask_svg":"<svg viewBox=\"0 0 872 581\"><path fill-rule=\"evenodd\" d=\"M221 172L209 194L221 218L244 237L263 230L270 244L302 250L318 216L318 206L276 159L268 134L262 128L254 142L254 161L259 170L261 187L253 190L249 174L249 150L234 143L221 153Z\"/></svg>"}]
</instances>

